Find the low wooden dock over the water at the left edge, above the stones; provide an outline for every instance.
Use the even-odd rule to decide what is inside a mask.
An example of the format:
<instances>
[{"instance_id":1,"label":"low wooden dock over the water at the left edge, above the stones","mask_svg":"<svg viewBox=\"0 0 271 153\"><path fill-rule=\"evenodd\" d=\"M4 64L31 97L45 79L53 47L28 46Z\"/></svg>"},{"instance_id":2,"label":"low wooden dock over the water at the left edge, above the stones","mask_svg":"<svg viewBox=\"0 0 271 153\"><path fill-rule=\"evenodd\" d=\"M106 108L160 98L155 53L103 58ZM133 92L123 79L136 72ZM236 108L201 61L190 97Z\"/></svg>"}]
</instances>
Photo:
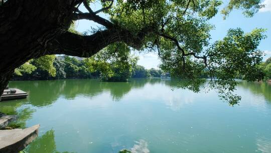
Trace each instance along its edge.
<instances>
[{"instance_id":1,"label":"low wooden dock over the water at the left edge, above the stones","mask_svg":"<svg viewBox=\"0 0 271 153\"><path fill-rule=\"evenodd\" d=\"M17 88L5 89L3 95L0 97L0 101L26 98L28 94Z\"/></svg>"}]
</instances>

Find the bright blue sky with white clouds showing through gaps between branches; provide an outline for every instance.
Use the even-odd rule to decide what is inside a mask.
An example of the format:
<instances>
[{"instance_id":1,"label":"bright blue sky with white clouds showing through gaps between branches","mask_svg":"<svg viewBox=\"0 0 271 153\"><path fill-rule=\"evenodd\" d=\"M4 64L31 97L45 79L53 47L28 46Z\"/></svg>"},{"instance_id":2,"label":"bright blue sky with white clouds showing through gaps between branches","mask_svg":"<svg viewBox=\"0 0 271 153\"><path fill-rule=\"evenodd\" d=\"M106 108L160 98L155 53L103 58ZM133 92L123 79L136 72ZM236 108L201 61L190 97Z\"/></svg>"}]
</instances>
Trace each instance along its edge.
<instances>
[{"instance_id":1,"label":"bright blue sky with white clouds showing through gaps between branches","mask_svg":"<svg viewBox=\"0 0 271 153\"><path fill-rule=\"evenodd\" d=\"M225 0L225 4L227 4L228 1L229 0ZM265 61L268 57L271 57L271 0L263 0L262 4L265 5L265 8L260 9L259 12L252 18L244 17L241 11L233 11L226 18L226 20L223 20L222 15L218 13L214 18L210 20L210 23L216 27L211 31L211 42L222 39L226 35L227 30L230 28L239 27L244 32L250 32L255 28L264 28L266 29L265 35L267 38L261 41L258 49L262 50L266 54L263 57L263 61ZM224 6L221 6L221 8L223 7ZM79 9L86 12L85 8L82 6L79 7ZM100 9L100 5L94 4L92 5L92 9L98 10ZM106 16L102 13L99 14L99 16L106 18ZM76 23L76 30L79 32L85 32L91 28L97 27L99 27L98 24L87 20L80 20ZM131 54L140 57L140 60L138 61L139 65L143 65L148 69L158 68L160 60L157 53L139 53L138 51L132 51Z\"/></svg>"}]
</instances>

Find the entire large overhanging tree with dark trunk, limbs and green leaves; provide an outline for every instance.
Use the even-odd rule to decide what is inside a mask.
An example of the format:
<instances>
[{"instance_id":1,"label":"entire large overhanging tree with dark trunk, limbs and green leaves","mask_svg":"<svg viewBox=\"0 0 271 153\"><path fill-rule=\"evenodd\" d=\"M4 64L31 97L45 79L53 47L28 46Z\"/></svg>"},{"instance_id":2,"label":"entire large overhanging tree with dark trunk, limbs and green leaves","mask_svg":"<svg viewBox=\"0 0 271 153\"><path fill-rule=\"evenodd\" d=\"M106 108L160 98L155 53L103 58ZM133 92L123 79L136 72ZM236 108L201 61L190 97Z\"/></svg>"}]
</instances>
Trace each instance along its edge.
<instances>
[{"instance_id":1,"label":"entire large overhanging tree with dark trunk, limbs and green leaves","mask_svg":"<svg viewBox=\"0 0 271 153\"><path fill-rule=\"evenodd\" d=\"M211 87L220 89L230 104L236 75L249 81L263 78L257 64L264 38L263 29L245 34L230 29L225 38L209 43L208 21L218 13L219 0L101 0L103 8L92 9L92 0L1 0L0 1L0 93L16 67L48 54L90 57L115 42L138 50L156 51L161 68L189 80L185 87L197 91L199 75L209 72ZM87 12L78 8L84 6ZM260 0L230 0L221 11L224 17L233 9L253 16ZM98 16L107 14L108 19ZM101 25L89 35L68 31L76 20ZM192 87L193 86L193 87ZM229 98L229 99L228 99Z\"/></svg>"}]
</instances>

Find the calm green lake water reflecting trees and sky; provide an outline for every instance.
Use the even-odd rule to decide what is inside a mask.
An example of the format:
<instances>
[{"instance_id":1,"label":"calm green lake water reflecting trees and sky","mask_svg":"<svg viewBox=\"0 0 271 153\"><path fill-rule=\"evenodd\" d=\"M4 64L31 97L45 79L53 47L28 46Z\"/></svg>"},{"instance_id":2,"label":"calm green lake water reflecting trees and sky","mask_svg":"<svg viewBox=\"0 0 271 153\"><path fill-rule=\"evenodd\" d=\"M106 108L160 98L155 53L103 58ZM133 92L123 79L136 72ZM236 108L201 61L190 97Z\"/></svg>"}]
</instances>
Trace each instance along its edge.
<instances>
[{"instance_id":1,"label":"calm green lake water reflecting trees and sky","mask_svg":"<svg viewBox=\"0 0 271 153\"><path fill-rule=\"evenodd\" d=\"M27 152L271 152L271 85L241 81L234 107L175 80L13 81L27 99L0 102L17 124L40 124ZM173 90L174 89L174 90Z\"/></svg>"}]
</instances>

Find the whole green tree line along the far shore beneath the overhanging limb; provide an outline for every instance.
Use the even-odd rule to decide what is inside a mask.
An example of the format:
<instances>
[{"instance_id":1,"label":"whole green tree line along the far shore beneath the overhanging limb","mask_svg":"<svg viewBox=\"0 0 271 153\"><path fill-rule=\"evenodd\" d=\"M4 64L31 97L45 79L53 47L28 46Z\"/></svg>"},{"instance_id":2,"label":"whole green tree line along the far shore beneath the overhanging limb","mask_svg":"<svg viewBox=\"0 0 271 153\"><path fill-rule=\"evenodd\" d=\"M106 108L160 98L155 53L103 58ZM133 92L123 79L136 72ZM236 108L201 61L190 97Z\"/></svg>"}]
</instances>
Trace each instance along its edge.
<instances>
[{"instance_id":1,"label":"whole green tree line along the far shore beneath the overhanging limb","mask_svg":"<svg viewBox=\"0 0 271 153\"><path fill-rule=\"evenodd\" d=\"M61 57L61 58L60 58ZM95 70L93 70L95 69ZM111 62L71 56L45 55L15 69L12 80L93 79L127 81L129 78L160 77L161 69L137 65L137 58Z\"/></svg>"}]
</instances>

